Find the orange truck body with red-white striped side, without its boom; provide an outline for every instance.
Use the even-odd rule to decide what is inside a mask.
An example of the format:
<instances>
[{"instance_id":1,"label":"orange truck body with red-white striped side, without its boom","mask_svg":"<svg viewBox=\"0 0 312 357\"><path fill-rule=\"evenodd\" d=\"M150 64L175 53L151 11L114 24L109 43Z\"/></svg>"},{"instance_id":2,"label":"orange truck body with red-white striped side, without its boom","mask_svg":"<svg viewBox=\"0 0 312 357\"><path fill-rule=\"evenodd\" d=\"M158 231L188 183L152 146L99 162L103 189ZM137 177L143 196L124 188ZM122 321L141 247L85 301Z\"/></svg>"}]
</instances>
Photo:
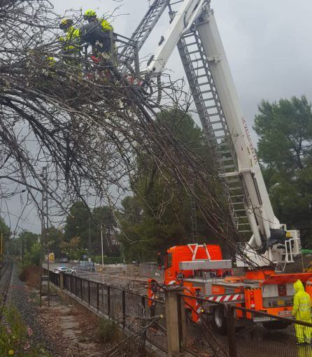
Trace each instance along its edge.
<instances>
[{"instance_id":1,"label":"orange truck body with red-white striped side, without its boom","mask_svg":"<svg viewBox=\"0 0 312 357\"><path fill-rule=\"evenodd\" d=\"M220 246L209 244L188 244L173 246L158 255L159 268L164 269L165 285L180 285L185 295L204 297L207 302L222 302L246 307L267 314L288 317L292 314L292 299L295 293L293 283L300 279L306 283L306 291L312 298L312 273L276 274L274 269L262 268L246 270L241 276L234 276L232 260L222 260ZM157 282L150 279L148 295L157 297ZM153 302L150 303L150 306ZM225 313L222 306L213 305L213 329L226 332ZM185 297L185 309L190 312L192 321L198 322L206 310L197 300ZM252 319L236 312L236 320L244 323ZM250 321L248 321L250 322ZM264 327L286 328L288 323L264 322Z\"/></svg>"}]
</instances>

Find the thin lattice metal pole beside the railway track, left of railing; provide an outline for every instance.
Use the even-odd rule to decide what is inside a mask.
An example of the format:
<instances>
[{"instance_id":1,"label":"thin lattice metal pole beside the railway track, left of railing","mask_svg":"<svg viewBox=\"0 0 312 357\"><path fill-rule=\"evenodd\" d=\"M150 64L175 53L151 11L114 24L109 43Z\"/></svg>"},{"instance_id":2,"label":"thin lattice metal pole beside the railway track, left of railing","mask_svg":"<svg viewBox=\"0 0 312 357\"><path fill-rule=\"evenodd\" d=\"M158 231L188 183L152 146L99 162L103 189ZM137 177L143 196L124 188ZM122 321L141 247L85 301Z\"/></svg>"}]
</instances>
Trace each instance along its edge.
<instances>
[{"instance_id":1,"label":"thin lattice metal pole beside the railway track, left of railing","mask_svg":"<svg viewBox=\"0 0 312 357\"><path fill-rule=\"evenodd\" d=\"M43 263L43 256L46 248L47 252L47 262L48 262L48 307L50 307L50 262L49 262L49 247L48 247L48 239L47 239L47 232L49 227L49 216L48 216L48 168L45 166L42 169L41 174L42 179L42 190L41 190L41 279L40 279L40 306L41 306L41 297L42 297L42 263ZM46 244L46 247L45 247Z\"/></svg>"}]
</instances>

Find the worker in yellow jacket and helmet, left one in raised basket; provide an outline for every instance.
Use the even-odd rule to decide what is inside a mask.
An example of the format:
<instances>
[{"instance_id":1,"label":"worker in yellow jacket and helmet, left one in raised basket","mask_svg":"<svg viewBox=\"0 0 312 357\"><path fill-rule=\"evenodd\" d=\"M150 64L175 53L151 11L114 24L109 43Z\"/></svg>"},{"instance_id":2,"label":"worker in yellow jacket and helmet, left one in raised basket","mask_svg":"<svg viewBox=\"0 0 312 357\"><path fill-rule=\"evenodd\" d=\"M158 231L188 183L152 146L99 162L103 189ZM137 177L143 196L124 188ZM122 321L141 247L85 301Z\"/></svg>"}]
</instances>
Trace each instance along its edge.
<instances>
[{"instance_id":1,"label":"worker in yellow jacket and helmet, left one in raised basket","mask_svg":"<svg viewBox=\"0 0 312 357\"><path fill-rule=\"evenodd\" d=\"M66 36L59 37L62 43L62 53L66 56L65 61L75 59L80 55L80 30L73 27L73 20L64 18L59 24Z\"/></svg>"}]
</instances>

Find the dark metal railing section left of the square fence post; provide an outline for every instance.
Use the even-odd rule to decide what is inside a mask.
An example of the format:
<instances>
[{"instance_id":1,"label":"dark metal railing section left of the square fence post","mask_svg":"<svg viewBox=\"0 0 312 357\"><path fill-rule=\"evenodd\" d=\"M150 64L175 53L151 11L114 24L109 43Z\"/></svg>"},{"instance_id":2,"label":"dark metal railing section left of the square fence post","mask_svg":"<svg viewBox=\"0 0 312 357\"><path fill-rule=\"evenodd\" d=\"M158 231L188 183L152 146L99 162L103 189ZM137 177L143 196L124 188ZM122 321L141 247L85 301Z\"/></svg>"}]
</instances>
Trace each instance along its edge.
<instances>
[{"instance_id":1,"label":"dark metal railing section left of the square fence post","mask_svg":"<svg viewBox=\"0 0 312 357\"><path fill-rule=\"evenodd\" d=\"M152 301L146 295L140 295L125 288L91 281L72 274L61 274L63 278L60 274L50 272L49 279L55 286L64 288L67 293L87 304L97 313L118 322L120 328L129 333L137 333L138 328L143 328L144 339L147 342L160 351L167 351L164 301ZM61 286L62 279L63 286ZM150 323L150 327L145 329L142 321Z\"/></svg>"}]
</instances>

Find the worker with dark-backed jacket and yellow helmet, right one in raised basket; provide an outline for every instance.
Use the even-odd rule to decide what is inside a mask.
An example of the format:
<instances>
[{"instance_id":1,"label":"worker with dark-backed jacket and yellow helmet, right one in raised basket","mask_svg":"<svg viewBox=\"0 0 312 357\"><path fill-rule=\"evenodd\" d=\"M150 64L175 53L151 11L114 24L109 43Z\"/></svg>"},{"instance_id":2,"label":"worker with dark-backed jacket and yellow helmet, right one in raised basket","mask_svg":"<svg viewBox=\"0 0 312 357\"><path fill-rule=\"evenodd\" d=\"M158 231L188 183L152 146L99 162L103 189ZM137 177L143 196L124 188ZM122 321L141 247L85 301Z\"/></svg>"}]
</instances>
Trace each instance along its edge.
<instances>
[{"instance_id":1,"label":"worker with dark-backed jacket and yellow helmet, right one in raised basket","mask_svg":"<svg viewBox=\"0 0 312 357\"><path fill-rule=\"evenodd\" d=\"M94 10L87 10L83 16L89 25L83 27L87 42L92 43L92 52L97 57L111 57L113 49L113 27L105 19L98 19Z\"/></svg>"}]
</instances>

